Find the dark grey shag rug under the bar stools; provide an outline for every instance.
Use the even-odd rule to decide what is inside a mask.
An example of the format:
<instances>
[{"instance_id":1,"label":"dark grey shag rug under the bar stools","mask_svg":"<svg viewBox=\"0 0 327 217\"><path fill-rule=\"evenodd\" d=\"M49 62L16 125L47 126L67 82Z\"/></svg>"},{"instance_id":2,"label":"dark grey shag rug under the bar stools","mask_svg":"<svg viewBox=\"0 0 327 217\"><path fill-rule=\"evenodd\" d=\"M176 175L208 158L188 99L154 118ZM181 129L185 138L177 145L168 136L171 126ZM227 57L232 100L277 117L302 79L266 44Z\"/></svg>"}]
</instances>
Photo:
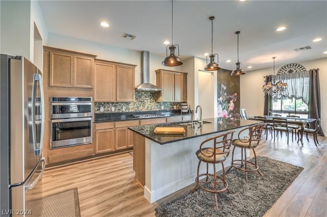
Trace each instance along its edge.
<instances>
[{"instance_id":1,"label":"dark grey shag rug under the bar stools","mask_svg":"<svg viewBox=\"0 0 327 217\"><path fill-rule=\"evenodd\" d=\"M190 192L156 207L156 216L263 216L281 197L293 182L302 167L294 166L264 156L257 156L258 172L245 173L235 168L226 173L227 191L217 194L218 207L215 206L213 193L205 192L199 187ZM249 161L254 161L250 159Z\"/></svg>"}]
</instances>

